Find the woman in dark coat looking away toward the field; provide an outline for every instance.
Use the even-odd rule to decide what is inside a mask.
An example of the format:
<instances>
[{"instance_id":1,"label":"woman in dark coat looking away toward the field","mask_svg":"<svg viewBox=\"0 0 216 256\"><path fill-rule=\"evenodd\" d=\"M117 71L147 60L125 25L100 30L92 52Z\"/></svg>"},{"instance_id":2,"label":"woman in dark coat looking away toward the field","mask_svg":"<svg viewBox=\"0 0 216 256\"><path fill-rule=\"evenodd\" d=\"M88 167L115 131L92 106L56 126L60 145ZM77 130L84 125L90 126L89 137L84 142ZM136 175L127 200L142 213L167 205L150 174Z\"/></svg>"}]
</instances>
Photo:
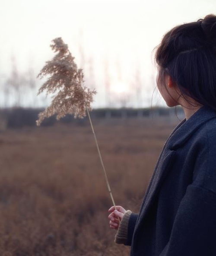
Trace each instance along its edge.
<instances>
[{"instance_id":1,"label":"woman in dark coat looking away toward the field","mask_svg":"<svg viewBox=\"0 0 216 256\"><path fill-rule=\"evenodd\" d=\"M162 149L139 214L111 207L109 224L131 256L216 256L216 16L167 32L156 63L159 92L185 118Z\"/></svg>"}]
</instances>

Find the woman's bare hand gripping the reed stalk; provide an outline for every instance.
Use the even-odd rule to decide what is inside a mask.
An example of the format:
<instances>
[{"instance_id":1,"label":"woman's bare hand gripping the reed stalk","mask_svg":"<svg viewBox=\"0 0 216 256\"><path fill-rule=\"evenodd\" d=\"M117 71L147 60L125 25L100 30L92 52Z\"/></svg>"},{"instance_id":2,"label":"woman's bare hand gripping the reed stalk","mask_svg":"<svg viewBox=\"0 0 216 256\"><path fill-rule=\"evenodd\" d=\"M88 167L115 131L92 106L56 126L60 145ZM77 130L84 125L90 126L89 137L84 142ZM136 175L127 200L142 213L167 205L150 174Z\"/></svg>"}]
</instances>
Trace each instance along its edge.
<instances>
[{"instance_id":1,"label":"woman's bare hand gripping the reed stalk","mask_svg":"<svg viewBox=\"0 0 216 256\"><path fill-rule=\"evenodd\" d=\"M116 210L115 210L116 208ZM125 213L125 209L121 207L120 205L117 205L116 207L112 206L109 208L108 212L111 212L109 214L108 219L110 228L118 229L119 223ZM120 220L120 221L119 221Z\"/></svg>"}]
</instances>

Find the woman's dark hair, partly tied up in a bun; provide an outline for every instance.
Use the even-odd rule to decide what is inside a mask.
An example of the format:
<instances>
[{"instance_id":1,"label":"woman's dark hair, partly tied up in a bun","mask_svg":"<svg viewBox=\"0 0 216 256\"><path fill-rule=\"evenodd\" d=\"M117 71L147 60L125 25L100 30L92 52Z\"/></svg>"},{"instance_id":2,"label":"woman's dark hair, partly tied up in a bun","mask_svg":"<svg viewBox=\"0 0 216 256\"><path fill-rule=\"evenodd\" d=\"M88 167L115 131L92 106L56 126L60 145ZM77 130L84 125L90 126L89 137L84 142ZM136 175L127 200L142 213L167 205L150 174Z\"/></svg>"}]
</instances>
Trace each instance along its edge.
<instances>
[{"instance_id":1,"label":"woman's dark hair, partly tied up in a bun","mask_svg":"<svg viewBox=\"0 0 216 256\"><path fill-rule=\"evenodd\" d=\"M159 79L169 74L181 92L216 110L216 16L174 27L156 46Z\"/></svg>"}]
</instances>

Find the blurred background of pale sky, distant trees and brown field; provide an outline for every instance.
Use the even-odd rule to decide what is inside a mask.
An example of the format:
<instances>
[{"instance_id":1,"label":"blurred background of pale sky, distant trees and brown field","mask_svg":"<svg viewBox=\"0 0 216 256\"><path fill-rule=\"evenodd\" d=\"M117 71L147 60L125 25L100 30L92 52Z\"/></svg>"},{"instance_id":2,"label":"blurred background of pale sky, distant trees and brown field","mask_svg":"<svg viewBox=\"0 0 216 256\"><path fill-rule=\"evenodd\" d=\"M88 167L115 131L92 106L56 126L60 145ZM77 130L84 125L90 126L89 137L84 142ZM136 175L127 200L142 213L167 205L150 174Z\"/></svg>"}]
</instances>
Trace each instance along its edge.
<instances>
[{"instance_id":1,"label":"blurred background of pale sky, distant trees and brown field","mask_svg":"<svg viewBox=\"0 0 216 256\"><path fill-rule=\"evenodd\" d=\"M153 49L215 0L0 0L0 255L128 255L88 119L35 126L51 98L37 75L62 37L95 89L91 112L115 201L139 211L160 150L183 118L156 89Z\"/></svg>"}]
</instances>

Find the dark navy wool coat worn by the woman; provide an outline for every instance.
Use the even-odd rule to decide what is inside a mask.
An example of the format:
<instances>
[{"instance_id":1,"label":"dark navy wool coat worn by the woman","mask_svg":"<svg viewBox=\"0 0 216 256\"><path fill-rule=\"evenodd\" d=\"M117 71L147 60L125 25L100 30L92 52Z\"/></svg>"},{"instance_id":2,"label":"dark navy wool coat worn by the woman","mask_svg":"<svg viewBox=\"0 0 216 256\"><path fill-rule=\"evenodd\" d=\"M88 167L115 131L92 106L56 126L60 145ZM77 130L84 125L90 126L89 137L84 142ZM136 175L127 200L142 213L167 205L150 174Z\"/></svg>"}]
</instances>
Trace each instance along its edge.
<instances>
[{"instance_id":1,"label":"dark navy wool coat worn by the woman","mask_svg":"<svg viewBox=\"0 0 216 256\"><path fill-rule=\"evenodd\" d=\"M216 256L216 112L201 107L172 131L139 214L131 256Z\"/></svg>"}]
</instances>

